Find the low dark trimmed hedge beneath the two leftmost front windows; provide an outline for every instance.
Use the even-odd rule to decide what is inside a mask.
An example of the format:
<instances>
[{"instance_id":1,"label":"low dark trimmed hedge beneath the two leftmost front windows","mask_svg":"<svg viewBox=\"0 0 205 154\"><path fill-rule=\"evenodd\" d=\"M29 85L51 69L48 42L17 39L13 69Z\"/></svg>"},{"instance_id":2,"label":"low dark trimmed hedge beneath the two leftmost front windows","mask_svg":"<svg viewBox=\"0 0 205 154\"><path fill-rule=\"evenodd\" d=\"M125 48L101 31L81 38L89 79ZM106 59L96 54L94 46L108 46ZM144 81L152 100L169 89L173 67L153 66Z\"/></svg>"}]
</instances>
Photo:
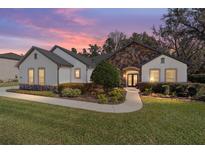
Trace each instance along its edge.
<instances>
[{"instance_id":1,"label":"low dark trimmed hedge beneath the two leftmost front windows","mask_svg":"<svg viewBox=\"0 0 205 154\"><path fill-rule=\"evenodd\" d=\"M20 90L34 90L34 91L56 91L56 86L48 86L48 85L29 85L29 84L20 84Z\"/></svg>"}]
</instances>

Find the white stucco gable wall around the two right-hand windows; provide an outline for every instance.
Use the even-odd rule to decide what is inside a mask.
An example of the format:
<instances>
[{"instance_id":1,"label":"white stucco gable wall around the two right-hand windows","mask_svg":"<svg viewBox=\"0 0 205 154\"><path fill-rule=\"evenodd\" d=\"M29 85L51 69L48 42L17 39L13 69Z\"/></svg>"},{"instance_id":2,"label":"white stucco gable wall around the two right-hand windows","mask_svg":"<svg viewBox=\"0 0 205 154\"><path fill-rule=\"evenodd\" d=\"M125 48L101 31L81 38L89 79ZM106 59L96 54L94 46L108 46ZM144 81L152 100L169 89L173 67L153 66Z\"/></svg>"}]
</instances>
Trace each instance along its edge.
<instances>
[{"instance_id":1,"label":"white stucco gable wall around the two right-hand windows","mask_svg":"<svg viewBox=\"0 0 205 154\"><path fill-rule=\"evenodd\" d=\"M165 63L161 64L161 58ZM177 82L187 82L187 65L166 55L161 55L142 66L142 82L149 82L150 69L160 69L160 82L165 82L165 69L177 69Z\"/></svg>"}]
</instances>

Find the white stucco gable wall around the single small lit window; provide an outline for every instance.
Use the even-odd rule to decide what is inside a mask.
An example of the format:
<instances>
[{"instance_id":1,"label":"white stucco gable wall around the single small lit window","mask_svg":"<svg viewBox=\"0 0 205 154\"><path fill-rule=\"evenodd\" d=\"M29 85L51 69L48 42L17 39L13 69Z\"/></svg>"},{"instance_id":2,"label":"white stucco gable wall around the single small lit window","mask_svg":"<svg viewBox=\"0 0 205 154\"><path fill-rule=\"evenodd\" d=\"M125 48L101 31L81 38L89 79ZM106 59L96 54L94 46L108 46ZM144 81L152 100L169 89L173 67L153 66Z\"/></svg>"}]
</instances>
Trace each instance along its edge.
<instances>
[{"instance_id":1,"label":"white stucco gable wall around the single small lit window","mask_svg":"<svg viewBox=\"0 0 205 154\"><path fill-rule=\"evenodd\" d=\"M69 54L65 53L59 48L56 48L53 53L57 54L58 56L65 59L67 62L71 63L74 67L70 69L70 82L74 83L86 83L87 82L87 66L79 61L78 59L70 56ZM81 77L80 79L76 79L74 75L74 71L76 68L80 68L81 70Z\"/></svg>"}]
</instances>

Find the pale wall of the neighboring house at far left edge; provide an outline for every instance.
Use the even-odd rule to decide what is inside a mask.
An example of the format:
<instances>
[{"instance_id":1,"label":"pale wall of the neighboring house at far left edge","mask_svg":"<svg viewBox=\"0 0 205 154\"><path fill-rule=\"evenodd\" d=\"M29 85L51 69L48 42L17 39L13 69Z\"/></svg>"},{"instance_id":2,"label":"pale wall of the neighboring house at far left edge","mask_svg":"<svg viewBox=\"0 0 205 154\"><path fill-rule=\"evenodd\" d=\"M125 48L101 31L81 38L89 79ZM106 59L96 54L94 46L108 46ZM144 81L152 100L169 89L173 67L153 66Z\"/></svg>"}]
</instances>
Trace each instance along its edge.
<instances>
[{"instance_id":1,"label":"pale wall of the neighboring house at far left edge","mask_svg":"<svg viewBox=\"0 0 205 154\"><path fill-rule=\"evenodd\" d=\"M8 81L18 77L17 60L0 58L0 80Z\"/></svg>"}]
</instances>

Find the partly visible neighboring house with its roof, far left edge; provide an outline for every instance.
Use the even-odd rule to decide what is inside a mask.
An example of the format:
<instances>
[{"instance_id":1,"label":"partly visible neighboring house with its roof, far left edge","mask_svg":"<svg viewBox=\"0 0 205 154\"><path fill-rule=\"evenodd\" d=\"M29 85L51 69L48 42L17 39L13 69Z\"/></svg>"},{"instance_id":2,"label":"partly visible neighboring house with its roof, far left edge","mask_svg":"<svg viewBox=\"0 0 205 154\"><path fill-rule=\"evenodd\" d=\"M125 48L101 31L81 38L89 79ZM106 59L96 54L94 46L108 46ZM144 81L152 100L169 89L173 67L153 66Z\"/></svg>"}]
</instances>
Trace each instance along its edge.
<instances>
[{"instance_id":1,"label":"partly visible neighboring house with its roof, far left edge","mask_svg":"<svg viewBox=\"0 0 205 154\"><path fill-rule=\"evenodd\" d=\"M16 64L21 59L21 56L15 53L0 54L0 80L9 81L18 79L18 68Z\"/></svg>"}]
</instances>

